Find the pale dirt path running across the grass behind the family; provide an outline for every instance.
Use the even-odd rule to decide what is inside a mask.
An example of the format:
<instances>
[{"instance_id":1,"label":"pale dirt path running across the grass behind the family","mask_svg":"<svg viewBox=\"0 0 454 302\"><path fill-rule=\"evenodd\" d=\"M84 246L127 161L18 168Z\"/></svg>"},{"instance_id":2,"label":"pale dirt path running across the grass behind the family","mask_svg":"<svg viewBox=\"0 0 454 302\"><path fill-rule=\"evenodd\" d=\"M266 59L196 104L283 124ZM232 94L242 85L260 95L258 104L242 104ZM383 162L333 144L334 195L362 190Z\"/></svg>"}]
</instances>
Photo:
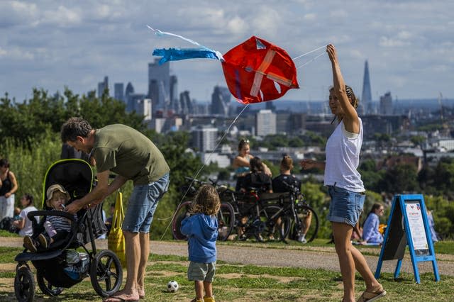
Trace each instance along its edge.
<instances>
[{"instance_id":1,"label":"pale dirt path running across the grass behind the family","mask_svg":"<svg viewBox=\"0 0 454 302\"><path fill-rule=\"evenodd\" d=\"M0 237L0 246L21 247L22 238ZM96 247L105 249L106 240L96 240ZM187 242L177 241L152 241L151 252L157 255L187 256ZM378 261L378 249L362 249L367 252L367 263L375 272ZM327 269L338 272L339 264L334 247L306 247L289 246L276 247L261 243L236 242L232 244L223 242L218 244L218 260L236 264L255 264L272 267L304 267L308 269ZM393 273L397 260L383 262L382 272ZM454 276L454 255L437 255L438 270L440 274ZM419 263L420 274L433 273L431 262ZM413 274L409 255L404 257L401 272Z\"/></svg>"}]
</instances>

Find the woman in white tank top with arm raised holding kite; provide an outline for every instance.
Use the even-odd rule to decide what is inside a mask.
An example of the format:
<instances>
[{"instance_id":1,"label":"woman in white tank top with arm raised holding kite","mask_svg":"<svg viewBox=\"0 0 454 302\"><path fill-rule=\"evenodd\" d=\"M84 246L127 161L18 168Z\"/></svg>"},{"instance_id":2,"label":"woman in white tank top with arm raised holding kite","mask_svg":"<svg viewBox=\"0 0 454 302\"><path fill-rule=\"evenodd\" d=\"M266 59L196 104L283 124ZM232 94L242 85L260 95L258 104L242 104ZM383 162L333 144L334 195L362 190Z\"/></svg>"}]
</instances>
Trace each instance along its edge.
<instances>
[{"instance_id":1,"label":"woman in white tank top with arm raised holding kite","mask_svg":"<svg viewBox=\"0 0 454 302\"><path fill-rule=\"evenodd\" d=\"M383 286L367 266L365 257L350 242L365 201L365 189L358 173L362 145L362 122L356 112L358 99L345 85L334 45L326 47L333 69L333 87L329 90L329 106L338 121L326 142L326 162L302 160L303 169L325 169L325 186L331 196L328 220L333 228L334 244L341 266L343 302L355 301L355 269L360 272L366 290L358 301L372 301L386 294ZM334 120L333 120L334 121Z\"/></svg>"}]
</instances>

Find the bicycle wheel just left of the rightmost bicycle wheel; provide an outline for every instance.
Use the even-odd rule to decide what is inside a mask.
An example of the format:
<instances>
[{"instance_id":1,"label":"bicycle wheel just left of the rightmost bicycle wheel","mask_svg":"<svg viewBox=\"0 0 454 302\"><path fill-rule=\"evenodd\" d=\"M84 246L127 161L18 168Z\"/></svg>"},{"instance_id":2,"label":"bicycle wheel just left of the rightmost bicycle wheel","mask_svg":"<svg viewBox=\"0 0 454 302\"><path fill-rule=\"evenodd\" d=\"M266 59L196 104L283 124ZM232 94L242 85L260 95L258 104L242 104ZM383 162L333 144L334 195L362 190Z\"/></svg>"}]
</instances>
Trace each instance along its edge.
<instances>
[{"instance_id":1,"label":"bicycle wheel just left of the rightmost bicycle wheel","mask_svg":"<svg viewBox=\"0 0 454 302\"><path fill-rule=\"evenodd\" d=\"M256 225L263 240L281 241L290 231L290 218L279 206L265 206L260 210L260 223Z\"/></svg>"}]
</instances>

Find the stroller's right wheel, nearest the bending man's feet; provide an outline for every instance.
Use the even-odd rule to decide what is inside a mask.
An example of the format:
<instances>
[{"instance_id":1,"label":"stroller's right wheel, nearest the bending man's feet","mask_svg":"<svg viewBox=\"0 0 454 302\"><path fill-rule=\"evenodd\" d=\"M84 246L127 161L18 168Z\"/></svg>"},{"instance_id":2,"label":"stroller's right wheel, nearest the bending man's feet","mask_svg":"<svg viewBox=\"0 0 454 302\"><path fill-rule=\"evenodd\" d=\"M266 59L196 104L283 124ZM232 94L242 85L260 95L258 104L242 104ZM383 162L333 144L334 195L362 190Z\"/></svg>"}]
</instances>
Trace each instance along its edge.
<instances>
[{"instance_id":1,"label":"stroller's right wheel, nearest the bending man's feet","mask_svg":"<svg viewBox=\"0 0 454 302\"><path fill-rule=\"evenodd\" d=\"M90 279L96 293L101 297L110 296L120 289L123 269L120 259L111 250L102 250L90 264Z\"/></svg>"}]
</instances>

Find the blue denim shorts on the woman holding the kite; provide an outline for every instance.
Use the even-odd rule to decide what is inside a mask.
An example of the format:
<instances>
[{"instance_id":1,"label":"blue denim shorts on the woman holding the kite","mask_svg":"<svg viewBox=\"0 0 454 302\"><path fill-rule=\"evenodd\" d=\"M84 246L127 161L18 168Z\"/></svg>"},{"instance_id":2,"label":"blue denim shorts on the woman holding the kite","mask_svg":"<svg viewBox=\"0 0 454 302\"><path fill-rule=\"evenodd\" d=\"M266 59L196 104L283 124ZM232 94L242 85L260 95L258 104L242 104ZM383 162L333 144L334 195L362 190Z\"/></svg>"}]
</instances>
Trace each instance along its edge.
<instances>
[{"instance_id":1,"label":"blue denim shorts on the woman holding the kite","mask_svg":"<svg viewBox=\"0 0 454 302\"><path fill-rule=\"evenodd\" d=\"M331 204L326 219L332 223L355 226L364 206L365 193L348 191L338 186L328 186L328 193L331 196Z\"/></svg>"}]
</instances>

